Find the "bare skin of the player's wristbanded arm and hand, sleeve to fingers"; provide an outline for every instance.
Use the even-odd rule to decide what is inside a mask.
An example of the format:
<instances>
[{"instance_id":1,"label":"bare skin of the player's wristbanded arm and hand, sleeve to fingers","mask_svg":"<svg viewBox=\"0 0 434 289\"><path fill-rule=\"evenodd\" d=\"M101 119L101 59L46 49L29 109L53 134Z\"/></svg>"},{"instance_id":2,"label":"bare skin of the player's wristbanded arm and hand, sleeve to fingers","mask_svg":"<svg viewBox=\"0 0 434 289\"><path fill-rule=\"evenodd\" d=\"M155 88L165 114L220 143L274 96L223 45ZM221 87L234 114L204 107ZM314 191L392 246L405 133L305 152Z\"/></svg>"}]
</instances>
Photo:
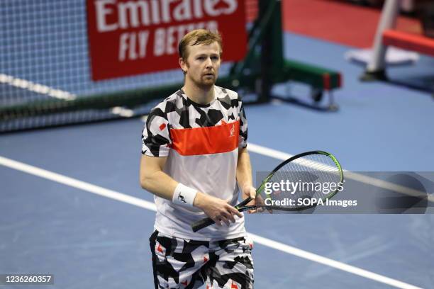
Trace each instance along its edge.
<instances>
[{"instance_id":1,"label":"bare skin of the player's wristbanded arm and hand, sleeve to fingers","mask_svg":"<svg viewBox=\"0 0 434 289\"><path fill-rule=\"evenodd\" d=\"M163 171L166 161L167 157L142 155L140 160L140 186L160 198L172 201L175 188L179 183ZM243 217L226 200L208 196L201 191L196 193L193 205L203 210L217 225L221 225L223 222L226 225L229 225L229 222L235 222L233 215Z\"/></svg>"}]
</instances>

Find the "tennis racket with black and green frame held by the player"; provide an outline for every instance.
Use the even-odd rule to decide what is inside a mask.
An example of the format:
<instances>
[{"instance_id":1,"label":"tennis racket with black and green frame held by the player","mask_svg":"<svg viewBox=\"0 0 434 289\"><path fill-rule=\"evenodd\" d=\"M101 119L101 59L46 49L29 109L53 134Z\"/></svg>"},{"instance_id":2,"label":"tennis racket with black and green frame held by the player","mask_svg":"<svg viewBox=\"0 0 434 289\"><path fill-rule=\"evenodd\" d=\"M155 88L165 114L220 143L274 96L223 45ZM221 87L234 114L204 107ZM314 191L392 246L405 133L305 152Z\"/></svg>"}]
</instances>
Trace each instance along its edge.
<instances>
[{"instance_id":1,"label":"tennis racket with black and green frame held by the player","mask_svg":"<svg viewBox=\"0 0 434 289\"><path fill-rule=\"evenodd\" d=\"M261 205L247 205L248 197L235 208L240 211L268 210L299 211L324 203L343 189L343 170L338 160L328 152L312 151L286 159L269 173L256 190ZM206 217L191 225L193 232L215 222Z\"/></svg>"}]
</instances>

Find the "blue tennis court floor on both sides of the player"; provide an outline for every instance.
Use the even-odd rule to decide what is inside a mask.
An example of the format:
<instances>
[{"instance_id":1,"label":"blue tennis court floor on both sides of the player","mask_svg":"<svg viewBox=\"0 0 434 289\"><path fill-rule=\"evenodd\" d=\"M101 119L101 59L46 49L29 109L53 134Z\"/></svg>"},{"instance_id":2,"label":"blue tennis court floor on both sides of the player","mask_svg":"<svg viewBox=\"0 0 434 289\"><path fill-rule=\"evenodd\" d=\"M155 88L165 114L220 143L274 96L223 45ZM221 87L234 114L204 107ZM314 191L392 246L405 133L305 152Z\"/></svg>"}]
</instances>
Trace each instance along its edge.
<instances>
[{"instance_id":1,"label":"blue tennis court floor on both sides of the player","mask_svg":"<svg viewBox=\"0 0 434 289\"><path fill-rule=\"evenodd\" d=\"M362 68L343 60L348 47L289 33L285 42L287 57L343 72L340 111L247 106L254 172L280 162L267 148L323 149L350 171L434 171L429 93L361 84ZM391 73L432 74L432 64L426 57ZM142 128L133 119L0 136L0 273L52 273L47 288L152 288L155 212L138 183ZM255 288L434 288L433 215L248 215L246 222Z\"/></svg>"}]
</instances>

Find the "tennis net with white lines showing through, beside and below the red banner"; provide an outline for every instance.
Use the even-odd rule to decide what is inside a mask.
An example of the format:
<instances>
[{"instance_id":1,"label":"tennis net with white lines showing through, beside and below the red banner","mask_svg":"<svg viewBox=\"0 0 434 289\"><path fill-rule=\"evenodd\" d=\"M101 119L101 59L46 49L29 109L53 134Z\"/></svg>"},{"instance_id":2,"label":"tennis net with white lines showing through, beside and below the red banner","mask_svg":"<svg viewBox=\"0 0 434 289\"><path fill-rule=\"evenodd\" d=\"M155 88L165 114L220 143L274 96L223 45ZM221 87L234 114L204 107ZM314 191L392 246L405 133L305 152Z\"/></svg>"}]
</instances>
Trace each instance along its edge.
<instances>
[{"instance_id":1,"label":"tennis net with white lines showing through, beside and below the red banner","mask_svg":"<svg viewBox=\"0 0 434 289\"><path fill-rule=\"evenodd\" d=\"M179 69L92 81L86 1L3 0L0 18L0 133L143 115L182 84Z\"/></svg>"}]
</instances>

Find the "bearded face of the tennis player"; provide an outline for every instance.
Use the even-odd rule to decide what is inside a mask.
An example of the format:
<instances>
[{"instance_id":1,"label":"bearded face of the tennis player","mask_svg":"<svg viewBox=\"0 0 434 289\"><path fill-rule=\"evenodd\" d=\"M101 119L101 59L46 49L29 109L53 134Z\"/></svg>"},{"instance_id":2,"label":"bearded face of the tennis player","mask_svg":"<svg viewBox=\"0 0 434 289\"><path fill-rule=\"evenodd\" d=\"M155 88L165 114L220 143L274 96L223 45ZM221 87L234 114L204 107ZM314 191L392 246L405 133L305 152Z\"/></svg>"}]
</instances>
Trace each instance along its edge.
<instances>
[{"instance_id":1,"label":"bearded face of the tennis player","mask_svg":"<svg viewBox=\"0 0 434 289\"><path fill-rule=\"evenodd\" d=\"M218 69L220 68L220 46L217 42L210 45L189 45L189 56L187 62L180 59L179 64L182 70L187 72L185 77L189 78L196 86L207 89L216 83Z\"/></svg>"}]
</instances>

